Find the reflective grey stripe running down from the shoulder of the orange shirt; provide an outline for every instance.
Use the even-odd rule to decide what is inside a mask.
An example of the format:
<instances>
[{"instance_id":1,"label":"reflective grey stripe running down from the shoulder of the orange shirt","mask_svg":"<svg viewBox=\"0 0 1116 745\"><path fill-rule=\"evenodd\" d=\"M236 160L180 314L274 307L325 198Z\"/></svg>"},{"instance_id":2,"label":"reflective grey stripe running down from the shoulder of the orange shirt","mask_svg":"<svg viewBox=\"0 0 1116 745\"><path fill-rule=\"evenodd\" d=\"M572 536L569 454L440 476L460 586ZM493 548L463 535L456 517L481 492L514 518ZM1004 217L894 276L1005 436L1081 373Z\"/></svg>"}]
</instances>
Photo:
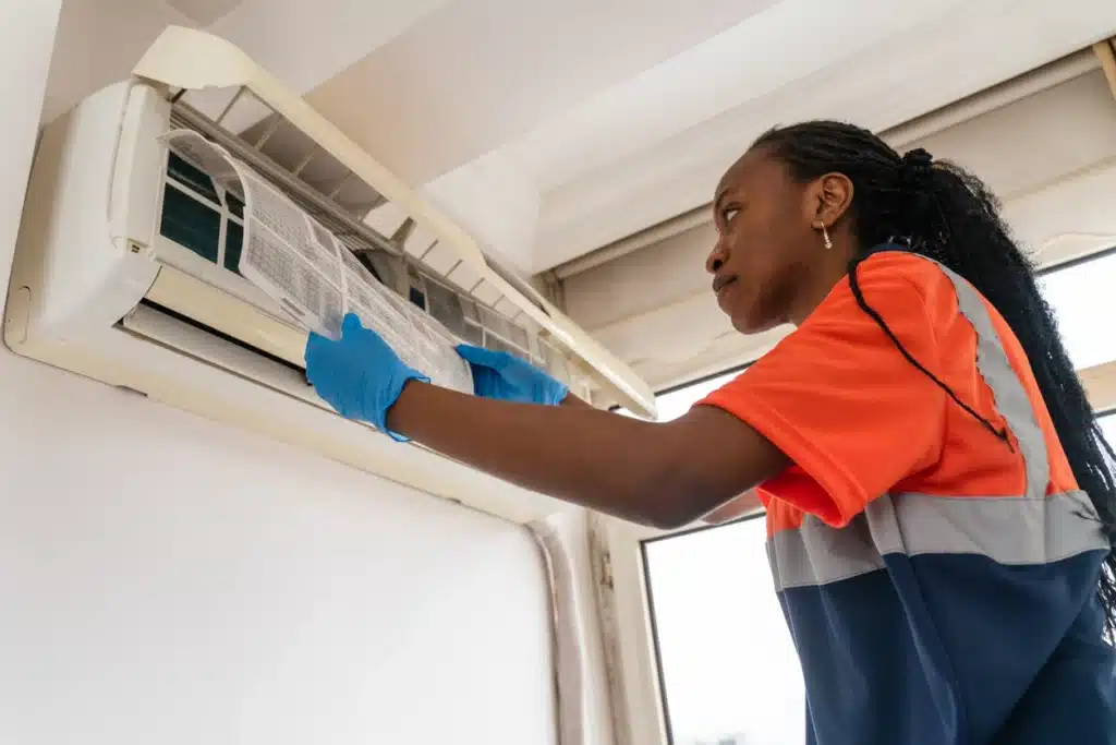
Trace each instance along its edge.
<instances>
[{"instance_id":1,"label":"reflective grey stripe running down from the shoulder of the orange shirt","mask_svg":"<svg viewBox=\"0 0 1116 745\"><path fill-rule=\"evenodd\" d=\"M1050 481L1050 461L1047 457L1046 438L1035 417L1035 409L1027 397L1027 391L1008 360L1000 335L992 325L988 306L984 305L980 294L949 267L937 261L934 264L953 284L953 290L958 295L958 309L977 332L977 369L992 391L997 410L1008 422L1008 428L1019 442L1027 475L1026 496L1040 499L1046 496L1047 485Z\"/></svg>"}]
</instances>

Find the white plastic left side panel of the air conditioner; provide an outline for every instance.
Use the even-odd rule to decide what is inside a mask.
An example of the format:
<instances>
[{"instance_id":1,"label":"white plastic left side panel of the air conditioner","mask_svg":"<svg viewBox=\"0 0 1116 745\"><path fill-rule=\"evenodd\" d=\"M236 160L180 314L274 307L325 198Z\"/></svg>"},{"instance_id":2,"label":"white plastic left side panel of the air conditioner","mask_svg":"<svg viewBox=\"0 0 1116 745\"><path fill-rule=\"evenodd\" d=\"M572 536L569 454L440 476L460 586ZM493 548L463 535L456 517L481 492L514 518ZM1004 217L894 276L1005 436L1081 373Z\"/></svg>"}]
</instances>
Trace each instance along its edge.
<instances>
[{"instance_id":1,"label":"white plastic left side panel of the air conditioner","mask_svg":"<svg viewBox=\"0 0 1116 745\"><path fill-rule=\"evenodd\" d=\"M163 120L153 94L109 86L44 131L9 287L19 315L4 324L6 341L16 352L36 356L44 354L36 347L103 333L154 280L158 267L145 245L162 168L154 131ZM136 226L147 232L133 241L127 233Z\"/></svg>"}]
</instances>

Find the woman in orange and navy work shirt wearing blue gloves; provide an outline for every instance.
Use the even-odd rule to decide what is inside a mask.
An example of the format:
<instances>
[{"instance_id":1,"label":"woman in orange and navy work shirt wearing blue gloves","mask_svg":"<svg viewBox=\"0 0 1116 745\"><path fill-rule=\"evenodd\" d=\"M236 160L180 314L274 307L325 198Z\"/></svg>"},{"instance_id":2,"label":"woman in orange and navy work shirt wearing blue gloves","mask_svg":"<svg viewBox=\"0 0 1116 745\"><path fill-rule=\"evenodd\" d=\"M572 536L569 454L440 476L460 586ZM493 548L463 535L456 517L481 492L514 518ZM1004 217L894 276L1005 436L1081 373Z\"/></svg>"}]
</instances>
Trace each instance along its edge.
<instances>
[{"instance_id":1,"label":"woman in orange and navy work shirt wearing blue gloves","mask_svg":"<svg viewBox=\"0 0 1116 745\"><path fill-rule=\"evenodd\" d=\"M310 338L308 378L397 439L641 523L759 487L808 742L1116 743L1113 451L993 197L811 122L761 136L713 219L733 325L797 328L679 420L475 347L483 398L437 389L354 318Z\"/></svg>"}]
</instances>

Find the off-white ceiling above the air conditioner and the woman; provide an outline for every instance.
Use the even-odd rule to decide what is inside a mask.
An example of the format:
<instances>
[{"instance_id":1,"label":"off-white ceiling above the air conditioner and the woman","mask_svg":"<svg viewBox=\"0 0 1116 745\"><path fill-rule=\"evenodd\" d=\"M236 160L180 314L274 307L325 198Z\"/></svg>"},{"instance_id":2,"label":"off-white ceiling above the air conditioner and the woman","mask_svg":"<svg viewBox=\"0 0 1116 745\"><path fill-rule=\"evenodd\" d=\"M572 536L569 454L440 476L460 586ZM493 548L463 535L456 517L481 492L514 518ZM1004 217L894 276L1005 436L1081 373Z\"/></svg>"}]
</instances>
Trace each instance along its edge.
<instances>
[{"instance_id":1,"label":"off-white ceiling above the air conditioner and the woman","mask_svg":"<svg viewBox=\"0 0 1116 745\"><path fill-rule=\"evenodd\" d=\"M125 77L166 23L240 46L492 254L535 274L703 206L773 124L895 127L1113 36L1116 3L66 0L47 117ZM661 255L692 278L681 264L691 254ZM570 308L628 360L638 355L613 317L628 305L673 322L696 313L634 276L607 286L626 298L612 311ZM687 350L681 340L671 354ZM657 370L644 372L668 378Z\"/></svg>"}]
</instances>

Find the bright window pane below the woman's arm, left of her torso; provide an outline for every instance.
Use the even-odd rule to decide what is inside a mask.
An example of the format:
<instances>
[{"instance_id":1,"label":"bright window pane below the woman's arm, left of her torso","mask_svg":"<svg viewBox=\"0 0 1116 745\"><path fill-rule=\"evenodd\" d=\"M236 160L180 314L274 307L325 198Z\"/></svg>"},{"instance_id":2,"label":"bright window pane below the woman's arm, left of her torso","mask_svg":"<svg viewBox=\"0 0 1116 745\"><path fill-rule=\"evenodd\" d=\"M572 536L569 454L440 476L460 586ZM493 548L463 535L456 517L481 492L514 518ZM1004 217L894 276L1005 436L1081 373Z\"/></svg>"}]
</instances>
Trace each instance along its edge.
<instances>
[{"instance_id":1,"label":"bright window pane below the woman's arm, left of her torso","mask_svg":"<svg viewBox=\"0 0 1116 745\"><path fill-rule=\"evenodd\" d=\"M644 544L674 745L806 737L805 688L763 518Z\"/></svg>"}]
</instances>

